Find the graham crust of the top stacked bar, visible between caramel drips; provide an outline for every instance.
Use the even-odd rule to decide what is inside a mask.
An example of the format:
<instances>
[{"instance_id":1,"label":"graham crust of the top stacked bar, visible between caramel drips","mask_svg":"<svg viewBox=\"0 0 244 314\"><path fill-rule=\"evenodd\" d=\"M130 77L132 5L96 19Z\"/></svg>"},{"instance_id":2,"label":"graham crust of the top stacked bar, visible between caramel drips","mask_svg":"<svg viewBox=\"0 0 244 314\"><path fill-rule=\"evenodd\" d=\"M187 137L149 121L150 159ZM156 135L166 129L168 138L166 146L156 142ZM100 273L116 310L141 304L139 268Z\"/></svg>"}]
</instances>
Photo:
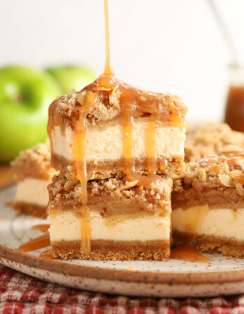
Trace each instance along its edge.
<instances>
[{"instance_id":1,"label":"graham crust of the top stacked bar, visible between caramel drips","mask_svg":"<svg viewBox=\"0 0 244 314\"><path fill-rule=\"evenodd\" d=\"M158 174L179 174L185 171L185 163L183 156L165 159L158 157ZM67 160L63 156L52 154L52 167L59 170L68 179L75 179L74 161ZM135 171L139 174L147 174L146 160L135 160ZM107 179L107 178L123 178L125 177L123 160L107 160L107 161L89 161L86 163L86 172L88 180Z\"/></svg>"}]
</instances>

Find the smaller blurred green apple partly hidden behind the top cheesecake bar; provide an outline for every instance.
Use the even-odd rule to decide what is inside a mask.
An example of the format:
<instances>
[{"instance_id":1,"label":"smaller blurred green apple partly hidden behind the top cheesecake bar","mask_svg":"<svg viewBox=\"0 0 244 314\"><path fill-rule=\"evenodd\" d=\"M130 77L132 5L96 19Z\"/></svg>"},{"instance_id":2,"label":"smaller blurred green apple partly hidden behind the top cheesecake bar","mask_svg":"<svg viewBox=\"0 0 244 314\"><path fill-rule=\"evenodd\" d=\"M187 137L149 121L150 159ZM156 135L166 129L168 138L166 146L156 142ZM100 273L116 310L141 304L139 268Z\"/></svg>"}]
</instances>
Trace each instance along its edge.
<instances>
[{"instance_id":1,"label":"smaller blurred green apple partly hidden behind the top cheesecake bar","mask_svg":"<svg viewBox=\"0 0 244 314\"><path fill-rule=\"evenodd\" d=\"M47 73L52 75L59 83L62 93L70 93L70 89L80 91L87 84L96 79L92 70L84 66L60 66L47 68Z\"/></svg>"}]
</instances>

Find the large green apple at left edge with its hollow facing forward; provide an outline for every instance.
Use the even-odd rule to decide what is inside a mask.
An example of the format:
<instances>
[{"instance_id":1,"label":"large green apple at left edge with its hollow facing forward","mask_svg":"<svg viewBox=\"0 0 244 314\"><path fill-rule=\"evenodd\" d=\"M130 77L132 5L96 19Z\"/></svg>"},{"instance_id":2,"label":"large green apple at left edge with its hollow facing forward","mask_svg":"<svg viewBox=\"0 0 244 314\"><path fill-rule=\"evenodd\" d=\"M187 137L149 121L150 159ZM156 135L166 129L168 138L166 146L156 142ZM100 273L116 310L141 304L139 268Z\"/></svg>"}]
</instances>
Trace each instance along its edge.
<instances>
[{"instance_id":1,"label":"large green apple at left edge with its hollow facing forward","mask_svg":"<svg viewBox=\"0 0 244 314\"><path fill-rule=\"evenodd\" d=\"M60 94L47 73L24 66L0 69L0 162L45 141L48 107Z\"/></svg>"}]
</instances>

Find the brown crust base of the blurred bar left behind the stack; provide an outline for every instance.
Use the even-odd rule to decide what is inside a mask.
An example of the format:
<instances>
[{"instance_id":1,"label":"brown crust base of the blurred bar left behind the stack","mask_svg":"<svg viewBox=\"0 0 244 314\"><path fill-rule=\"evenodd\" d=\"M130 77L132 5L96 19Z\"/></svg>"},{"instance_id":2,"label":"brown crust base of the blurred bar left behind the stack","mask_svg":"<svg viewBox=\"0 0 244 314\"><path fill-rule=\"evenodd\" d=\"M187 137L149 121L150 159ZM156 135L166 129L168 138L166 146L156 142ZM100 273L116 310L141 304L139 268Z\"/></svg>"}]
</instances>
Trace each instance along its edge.
<instances>
[{"instance_id":1,"label":"brown crust base of the blurred bar left behind the stack","mask_svg":"<svg viewBox=\"0 0 244 314\"><path fill-rule=\"evenodd\" d=\"M36 204L29 204L25 202L8 202L8 205L13 207L15 211L22 214L31 215L34 217L47 218L47 208L38 206Z\"/></svg>"}]
</instances>

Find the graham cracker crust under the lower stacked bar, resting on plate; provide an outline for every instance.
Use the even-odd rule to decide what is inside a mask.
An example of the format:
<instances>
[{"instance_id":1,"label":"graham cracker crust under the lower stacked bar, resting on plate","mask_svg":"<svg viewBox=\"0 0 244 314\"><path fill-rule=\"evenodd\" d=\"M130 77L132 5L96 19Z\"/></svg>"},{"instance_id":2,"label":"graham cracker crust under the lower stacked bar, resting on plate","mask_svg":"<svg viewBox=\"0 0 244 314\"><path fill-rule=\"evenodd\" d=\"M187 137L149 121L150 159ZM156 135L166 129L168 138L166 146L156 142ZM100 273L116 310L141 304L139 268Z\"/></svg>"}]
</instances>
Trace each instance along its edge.
<instances>
[{"instance_id":1,"label":"graham cracker crust under the lower stacked bar, resting on plate","mask_svg":"<svg viewBox=\"0 0 244 314\"><path fill-rule=\"evenodd\" d=\"M64 260L169 260L169 241L112 241L92 240L91 253L80 251L80 241L51 242L54 258Z\"/></svg>"}]
</instances>

